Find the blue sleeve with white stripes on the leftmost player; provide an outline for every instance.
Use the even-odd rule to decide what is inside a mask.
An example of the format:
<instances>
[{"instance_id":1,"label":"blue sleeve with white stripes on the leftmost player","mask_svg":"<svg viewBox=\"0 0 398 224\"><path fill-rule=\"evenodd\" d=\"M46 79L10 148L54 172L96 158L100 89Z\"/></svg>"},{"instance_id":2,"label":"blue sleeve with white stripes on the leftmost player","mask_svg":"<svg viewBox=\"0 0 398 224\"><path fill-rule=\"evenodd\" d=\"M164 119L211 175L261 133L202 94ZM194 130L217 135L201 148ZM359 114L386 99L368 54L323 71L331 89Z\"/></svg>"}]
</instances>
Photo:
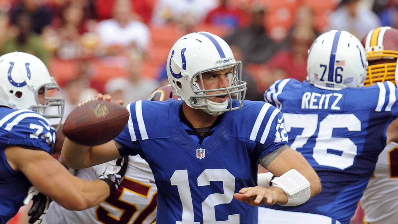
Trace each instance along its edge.
<instances>
[{"instance_id":1,"label":"blue sleeve with white stripes on the leftmost player","mask_svg":"<svg viewBox=\"0 0 398 224\"><path fill-rule=\"evenodd\" d=\"M10 133L8 145L25 145L51 153L55 130L49 121L35 112L26 112L10 118L4 124Z\"/></svg>"}]
</instances>

